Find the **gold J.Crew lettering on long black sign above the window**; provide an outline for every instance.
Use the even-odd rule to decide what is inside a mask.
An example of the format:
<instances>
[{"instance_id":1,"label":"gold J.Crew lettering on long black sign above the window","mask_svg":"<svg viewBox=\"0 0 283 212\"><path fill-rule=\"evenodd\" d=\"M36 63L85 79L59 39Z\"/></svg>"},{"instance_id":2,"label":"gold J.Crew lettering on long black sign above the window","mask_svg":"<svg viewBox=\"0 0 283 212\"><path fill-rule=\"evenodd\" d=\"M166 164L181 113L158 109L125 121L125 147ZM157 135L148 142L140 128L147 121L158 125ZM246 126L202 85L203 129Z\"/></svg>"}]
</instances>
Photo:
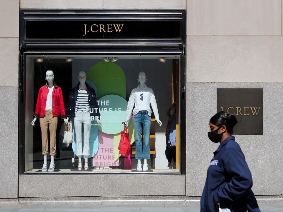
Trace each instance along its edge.
<instances>
[{"instance_id":1,"label":"gold J.Crew lettering on long black sign above the window","mask_svg":"<svg viewBox=\"0 0 283 212\"><path fill-rule=\"evenodd\" d=\"M85 36L88 32L98 32L98 33L109 33L109 32L121 32L124 24L92 24L85 26Z\"/></svg>"}]
</instances>

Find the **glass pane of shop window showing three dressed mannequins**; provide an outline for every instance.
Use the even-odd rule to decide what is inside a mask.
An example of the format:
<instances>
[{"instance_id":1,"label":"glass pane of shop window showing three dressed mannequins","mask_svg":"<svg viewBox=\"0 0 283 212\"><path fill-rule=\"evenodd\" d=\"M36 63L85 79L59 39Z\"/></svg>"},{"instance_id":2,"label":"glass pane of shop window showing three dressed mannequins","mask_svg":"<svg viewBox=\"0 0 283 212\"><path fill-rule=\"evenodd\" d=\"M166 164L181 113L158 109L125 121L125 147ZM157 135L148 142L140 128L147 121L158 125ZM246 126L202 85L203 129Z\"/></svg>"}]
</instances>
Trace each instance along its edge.
<instances>
[{"instance_id":1,"label":"glass pane of shop window showing three dressed mannequins","mask_svg":"<svg viewBox=\"0 0 283 212\"><path fill-rule=\"evenodd\" d=\"M179 173L179 60L27 55L25 171Z\"/></svg>"}]
</instances>

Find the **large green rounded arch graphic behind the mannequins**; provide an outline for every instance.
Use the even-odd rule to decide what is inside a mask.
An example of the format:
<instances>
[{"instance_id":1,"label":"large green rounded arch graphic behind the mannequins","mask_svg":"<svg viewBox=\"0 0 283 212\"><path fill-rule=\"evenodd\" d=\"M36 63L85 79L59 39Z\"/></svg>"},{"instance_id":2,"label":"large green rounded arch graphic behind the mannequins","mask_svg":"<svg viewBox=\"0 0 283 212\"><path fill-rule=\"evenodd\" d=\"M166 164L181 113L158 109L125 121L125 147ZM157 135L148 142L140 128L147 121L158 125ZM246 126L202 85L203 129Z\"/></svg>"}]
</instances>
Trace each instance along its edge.
<instances>
[{"instance_id":1,"label":"large green rounded arch graphic behind the mannequins","mask_svg":"<svg viewBox=\"0 0 283 212\"><path fill-rule=\"evenodd\" d=\"M119 65L98 62L91 67L87 77L97 88L97 99L111 94L126 99L126 77Z\"/></svg>"}]
</instances>

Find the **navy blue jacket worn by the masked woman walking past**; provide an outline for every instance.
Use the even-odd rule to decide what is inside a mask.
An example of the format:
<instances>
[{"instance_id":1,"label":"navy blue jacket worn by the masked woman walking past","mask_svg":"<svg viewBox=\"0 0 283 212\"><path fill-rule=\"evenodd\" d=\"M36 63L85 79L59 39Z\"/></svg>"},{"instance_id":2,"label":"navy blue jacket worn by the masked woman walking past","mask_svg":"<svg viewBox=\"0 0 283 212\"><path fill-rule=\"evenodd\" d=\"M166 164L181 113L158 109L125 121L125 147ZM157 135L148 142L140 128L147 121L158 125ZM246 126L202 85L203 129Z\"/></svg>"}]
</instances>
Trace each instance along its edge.
<instances>
[{"instance_id":1,"label":"navy blue jacket worn by the masked woman walking past","mask_svg":"<svg viewBox=\"0 0 283 212\"><path fill-rule=\"evenodd\" d=\"M213 154L200 200L200 211L215 212L215 200L231 208L231 212L246 212L253 180L235 137L223 140Z\"/></svg>"}]
</instances>

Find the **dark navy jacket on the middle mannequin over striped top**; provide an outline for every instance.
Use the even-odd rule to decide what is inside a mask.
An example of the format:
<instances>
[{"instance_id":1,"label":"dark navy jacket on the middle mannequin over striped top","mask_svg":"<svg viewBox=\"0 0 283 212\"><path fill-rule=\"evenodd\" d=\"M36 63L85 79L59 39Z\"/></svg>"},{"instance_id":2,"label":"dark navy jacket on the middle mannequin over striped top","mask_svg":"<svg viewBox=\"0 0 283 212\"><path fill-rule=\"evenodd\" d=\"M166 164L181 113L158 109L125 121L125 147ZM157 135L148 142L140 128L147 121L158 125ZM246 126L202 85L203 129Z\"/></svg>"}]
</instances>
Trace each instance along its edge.
<instances>
[{"instance_id":1,"label":"dark navy jacket on the middle mannequin over striped top","mask_svg":"<svg viewBox=\"0 0 283 212\"><path fill-rule=\"evenodd\" d=\"M78 91L79 91L79 85L80 83L72 88L70 95L69 95L69 100L68 100L68 107L67 107L67 111L66 111L66 115L67 117L75 117L76 113L75 113L75 109L76 109L76 102L77 102L77 97L78 97ZM91 88L87 83L85 83L86 85L86 92L88 94L88 105L90 108L90 115L91 116L98 116L98 119L100 119L100 112L99 112L99 108L98 108L98 104L97 104L97 98L95 95L95 90L93 88Z\"/></svg>"}]
</instances>

